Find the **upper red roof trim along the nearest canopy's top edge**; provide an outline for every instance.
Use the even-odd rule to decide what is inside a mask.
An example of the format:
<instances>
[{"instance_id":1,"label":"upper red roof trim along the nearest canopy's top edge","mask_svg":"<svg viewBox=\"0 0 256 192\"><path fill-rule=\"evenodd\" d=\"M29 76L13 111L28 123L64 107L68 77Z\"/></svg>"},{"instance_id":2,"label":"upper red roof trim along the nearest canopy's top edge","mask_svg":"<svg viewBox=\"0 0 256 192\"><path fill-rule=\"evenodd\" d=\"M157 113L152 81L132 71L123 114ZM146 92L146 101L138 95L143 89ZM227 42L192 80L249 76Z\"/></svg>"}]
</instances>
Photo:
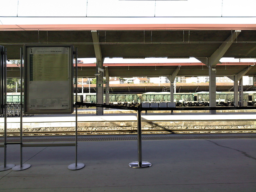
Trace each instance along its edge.
<instances>
[{"instance_id":1,"label":"upper red roof trim along the nearest canopy's top edge","mask_svg":"<svg viewBox=\"0 0 256 192\"><path fill-rule=\"evenodd\" d=\"M1 31L30 30L256 30L256 24L68 24L0 25Z\"/></svg>"}]
</instances>

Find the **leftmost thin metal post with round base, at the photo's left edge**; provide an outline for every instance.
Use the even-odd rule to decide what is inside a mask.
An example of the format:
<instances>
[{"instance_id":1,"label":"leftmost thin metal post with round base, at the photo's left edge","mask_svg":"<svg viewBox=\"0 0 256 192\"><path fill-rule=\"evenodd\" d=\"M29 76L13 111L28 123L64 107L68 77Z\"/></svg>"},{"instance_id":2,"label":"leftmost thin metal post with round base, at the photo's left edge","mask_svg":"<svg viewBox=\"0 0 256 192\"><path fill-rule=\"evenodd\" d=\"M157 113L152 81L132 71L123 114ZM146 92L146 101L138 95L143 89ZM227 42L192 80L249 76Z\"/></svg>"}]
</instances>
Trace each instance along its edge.
<instances>
[{"instance_id":1,"label":"leftmost thin metal post with round base, at the photo's left edge","mask_svg":"<svg viewBox=\"0 0 256 192\"><path fill-rule=\"evenodd\" d=\"M6 90L6 85L7 85L7 66L6 66L6 48L2 47L3 50L0 50L0 52L2 51L3 54L1 53L1 62L3 65L3 80L4 80L4 164L0 166L0 171L6 171L11 169L12 167L15 166L15 164L7 164L7 99L6 99L6 95L7 95L7 90Z\"/></svg>"}]
</instances>

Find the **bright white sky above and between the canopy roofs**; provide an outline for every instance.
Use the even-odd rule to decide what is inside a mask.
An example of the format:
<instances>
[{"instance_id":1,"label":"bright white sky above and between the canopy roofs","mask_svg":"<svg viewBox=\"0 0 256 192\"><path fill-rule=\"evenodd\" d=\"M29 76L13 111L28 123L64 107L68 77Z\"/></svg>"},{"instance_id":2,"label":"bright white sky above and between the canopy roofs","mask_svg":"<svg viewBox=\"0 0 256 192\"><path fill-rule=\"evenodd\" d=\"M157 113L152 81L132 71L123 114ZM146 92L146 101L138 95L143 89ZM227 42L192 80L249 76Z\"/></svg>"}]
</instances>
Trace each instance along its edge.
<instances>
[{"instance_id":1,"label":"bright white sky above and between the canopy roofs","mask_svg":"<svg viewBox=\"0 0 256 192\"><path fill-rule=\"evenodd\" d=\"M0 0L0 5L0 25L256 23L256 0Z\"/></svg>"}]
</instances>

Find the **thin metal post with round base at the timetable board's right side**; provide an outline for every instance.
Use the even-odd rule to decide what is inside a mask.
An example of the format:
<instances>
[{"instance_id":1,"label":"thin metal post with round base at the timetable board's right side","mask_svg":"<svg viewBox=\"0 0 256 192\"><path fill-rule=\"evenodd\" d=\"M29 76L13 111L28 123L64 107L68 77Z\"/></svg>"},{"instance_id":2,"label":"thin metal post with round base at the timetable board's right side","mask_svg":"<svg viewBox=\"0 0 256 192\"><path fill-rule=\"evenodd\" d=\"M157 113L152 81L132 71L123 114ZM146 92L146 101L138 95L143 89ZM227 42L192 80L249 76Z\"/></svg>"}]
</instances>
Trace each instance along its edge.
<instances>
[{"instance_id":1,"label":"thin metal post with round base at the timetable board's right side","mask_svg":"<svg viewBox=\"0 0 256 192\"><path fill-rule=\"evenodd\" d=\"M77 103L77 48L75 48L75 102ZM75 104L75 163L68 165L69 170L79 170L85 165L83 163L77 163L77 104Z\"/></svg>"}]
</instances>

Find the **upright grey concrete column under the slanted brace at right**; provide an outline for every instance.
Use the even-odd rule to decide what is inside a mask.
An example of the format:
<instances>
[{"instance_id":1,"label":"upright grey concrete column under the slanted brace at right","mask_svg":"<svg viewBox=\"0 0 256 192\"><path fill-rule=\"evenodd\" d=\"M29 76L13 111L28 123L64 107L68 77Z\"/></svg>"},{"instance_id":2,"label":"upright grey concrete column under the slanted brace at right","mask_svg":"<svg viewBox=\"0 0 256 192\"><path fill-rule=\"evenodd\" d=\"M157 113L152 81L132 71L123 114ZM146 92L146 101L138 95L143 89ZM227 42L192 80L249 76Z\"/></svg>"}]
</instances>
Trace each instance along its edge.
<instances>
[{"instance_id":1,"label":"upright grey concrete column under the slanted brace at right","mask_svg":"<svg viewBox=\"0 0 256 192\"><path fill-rule=\"evenodd\" d=\"M216 69L209 67L209 107L216 107ZM211 114L216 114L216 110L210 110Z\"/></svg>"}]
</instances>

